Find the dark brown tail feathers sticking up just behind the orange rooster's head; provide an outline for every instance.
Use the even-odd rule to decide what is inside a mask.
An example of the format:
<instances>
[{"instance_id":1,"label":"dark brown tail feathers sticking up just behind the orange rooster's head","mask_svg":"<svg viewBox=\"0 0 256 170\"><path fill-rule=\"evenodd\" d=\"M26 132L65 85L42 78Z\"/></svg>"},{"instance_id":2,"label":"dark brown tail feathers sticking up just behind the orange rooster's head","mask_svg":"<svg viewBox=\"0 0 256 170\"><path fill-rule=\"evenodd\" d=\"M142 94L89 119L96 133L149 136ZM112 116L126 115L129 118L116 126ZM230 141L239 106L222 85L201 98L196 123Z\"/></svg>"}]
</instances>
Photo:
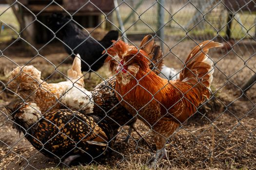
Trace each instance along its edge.
<instances>
[{"instance_id":1,"label":"dark brown tail feathers sticking up just behind the orange rooster's head","mask_svg":"<svg viewBox=\"0 0 256 170\"><path fill-rule=\"evenodd\" d=\"M150 60L149 68L158 75L163 67L161 47L154 41L154 37L151 34L142 39L139 47L148 54L148 59Z\"/></svg>"}]
</instances>

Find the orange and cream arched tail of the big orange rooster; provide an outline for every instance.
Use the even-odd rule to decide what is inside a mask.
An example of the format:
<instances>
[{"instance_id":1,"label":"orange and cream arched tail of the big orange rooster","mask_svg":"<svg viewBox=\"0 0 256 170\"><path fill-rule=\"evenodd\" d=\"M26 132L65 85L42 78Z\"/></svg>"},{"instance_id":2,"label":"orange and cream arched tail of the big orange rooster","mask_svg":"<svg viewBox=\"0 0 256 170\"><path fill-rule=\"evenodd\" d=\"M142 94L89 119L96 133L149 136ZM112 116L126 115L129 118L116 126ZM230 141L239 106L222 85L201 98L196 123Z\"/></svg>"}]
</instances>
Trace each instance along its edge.
<instances>
[{"instance_id":1,"label":"orange and cream arched tail of the big orange rooster","mask_svg":"<svg viewBox=\"0 0 256 170\"><path fill-rule=\"evenodd\" d=\"M182 82L196 85L202 95L210 97L210 85L213 81L213 61L208 57L209 49L220 47L222 44L214 41L204 41L195 47L189 54L184 69L179 74ZM199 82L199 83L198 83Z\"/></svg>"}]
</instances>

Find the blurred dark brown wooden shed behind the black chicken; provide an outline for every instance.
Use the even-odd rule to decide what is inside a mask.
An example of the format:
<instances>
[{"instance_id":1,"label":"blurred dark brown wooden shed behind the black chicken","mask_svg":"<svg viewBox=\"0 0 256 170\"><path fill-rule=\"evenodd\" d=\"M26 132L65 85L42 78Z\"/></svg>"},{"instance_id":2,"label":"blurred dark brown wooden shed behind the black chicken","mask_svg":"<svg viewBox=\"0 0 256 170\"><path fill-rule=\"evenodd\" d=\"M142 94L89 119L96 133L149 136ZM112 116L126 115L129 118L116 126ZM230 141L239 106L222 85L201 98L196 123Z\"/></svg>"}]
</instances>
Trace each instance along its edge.
<instances>
[{"instance_id":1,"label":"blurred dark brown wooden shed behind the black chicken","mask_svg":"<svg viewBox=\"0 0 256 170\"><path fill-rule=\"evenodd\" d=\"M74 14L74 20L84 28L89 28L97 27L101 23L103 13L108 14L114 9L113 0L19 0L19 2L25 6L19 5L23 21L26 26L29 25L27 29L37 43L45 43L52 38L47 28L40 23L47 25L47 18L52 13ZM0 3L6 1L0 0ZM36 18L40 22L35 20ZM111 15L108 19L111 19ZM105 28L110 29L110 27L106 22Z\"/></svg>"}]
</instances>

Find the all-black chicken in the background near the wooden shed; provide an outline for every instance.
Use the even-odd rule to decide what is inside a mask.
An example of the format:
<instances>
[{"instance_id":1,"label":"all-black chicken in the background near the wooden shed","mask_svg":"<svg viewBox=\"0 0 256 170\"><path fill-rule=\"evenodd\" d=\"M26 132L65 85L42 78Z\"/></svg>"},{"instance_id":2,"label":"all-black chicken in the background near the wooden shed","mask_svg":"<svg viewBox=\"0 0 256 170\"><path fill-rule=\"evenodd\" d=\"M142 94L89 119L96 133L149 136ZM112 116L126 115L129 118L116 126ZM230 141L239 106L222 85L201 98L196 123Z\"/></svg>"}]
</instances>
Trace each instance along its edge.
<instances>
[{"instance_id":1,"label":"all-black chicken in the background near the wooden shed","mask_svg":"<svg viewBox=\"0 0 256 170\"><path fill-rule=\"evenodd\" d=\"M82 71L97 71L107 58L102 51L112 45L111 40L118 39L118 31L108 32L100 41L95 40L70 18L62 14L49 17L49 27L60 34L65 50L74 56L79 53L82 59Z\"/></svg>"}]
</instances>

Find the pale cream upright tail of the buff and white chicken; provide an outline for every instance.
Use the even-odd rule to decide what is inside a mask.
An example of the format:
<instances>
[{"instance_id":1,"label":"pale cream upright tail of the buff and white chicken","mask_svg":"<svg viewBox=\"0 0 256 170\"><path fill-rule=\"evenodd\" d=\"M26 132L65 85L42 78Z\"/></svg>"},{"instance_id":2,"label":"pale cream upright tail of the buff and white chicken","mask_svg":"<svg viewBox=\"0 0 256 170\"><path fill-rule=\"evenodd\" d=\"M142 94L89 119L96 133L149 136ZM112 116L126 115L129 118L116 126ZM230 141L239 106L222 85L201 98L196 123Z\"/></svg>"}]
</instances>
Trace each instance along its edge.
<instances>
[{"instance_id":1,"label":"pale cream upright tail of the buff and white chicken","mask_svg":"<svg viewBox=\"0 0 256 170\"><path fill-rule=\"evenodd\" d=\"M79 54L76 55L72 67L68 69L67 77L73 83L78 84L80 87L84 87L83 74L81 71L81 57Z\"/></svg>"}]
</instances>

